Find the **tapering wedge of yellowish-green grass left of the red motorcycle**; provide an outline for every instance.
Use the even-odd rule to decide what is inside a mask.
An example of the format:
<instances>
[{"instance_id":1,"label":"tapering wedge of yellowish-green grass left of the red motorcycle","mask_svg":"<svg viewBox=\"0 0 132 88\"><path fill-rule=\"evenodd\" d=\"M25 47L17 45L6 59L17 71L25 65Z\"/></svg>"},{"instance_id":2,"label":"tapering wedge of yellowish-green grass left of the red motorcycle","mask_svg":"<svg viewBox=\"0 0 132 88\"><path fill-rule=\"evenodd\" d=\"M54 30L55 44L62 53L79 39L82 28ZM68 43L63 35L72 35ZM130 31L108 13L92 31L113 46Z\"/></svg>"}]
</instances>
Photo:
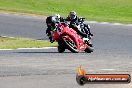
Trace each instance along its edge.
<instances>
[{"instance_id":1,"label":"tapering wedge of yellowish-green grass left of the red motorcycle","mask_svg":"<svg viewBox=\"0 0 132 88\"><path fill-rule=\"evenodd\" d=\"M57 43L49 41L32 40L26 38L3 38L0 37L0 49L17 49L17 48L41 48L55 47Z\"/></svg>"}]
</instances>

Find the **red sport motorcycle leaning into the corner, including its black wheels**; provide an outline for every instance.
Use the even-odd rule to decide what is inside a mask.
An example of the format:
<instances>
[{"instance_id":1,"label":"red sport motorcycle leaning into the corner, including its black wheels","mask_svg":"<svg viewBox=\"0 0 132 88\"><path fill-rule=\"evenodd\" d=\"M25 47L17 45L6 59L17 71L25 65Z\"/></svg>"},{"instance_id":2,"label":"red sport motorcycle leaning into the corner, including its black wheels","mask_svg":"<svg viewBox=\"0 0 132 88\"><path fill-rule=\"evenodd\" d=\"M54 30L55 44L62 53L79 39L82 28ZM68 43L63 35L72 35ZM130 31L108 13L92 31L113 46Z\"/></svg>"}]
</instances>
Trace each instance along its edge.
<instances>
[{"instance_id":1,"label":"red sport motorcycle leaning into the corner, including its black wheels","mask_svg":"<svg viewBox=\"0 0 132 88\"><path fill-rule=\"evenodd\" d=\"M69 28L65 23L58 23L57 30L51 31L53 40L58 42L58 52L62 53L65 49L73 53L85 51L93 52L93 49L85 44L75 30Z\"/></svg>"}]
</instances>

